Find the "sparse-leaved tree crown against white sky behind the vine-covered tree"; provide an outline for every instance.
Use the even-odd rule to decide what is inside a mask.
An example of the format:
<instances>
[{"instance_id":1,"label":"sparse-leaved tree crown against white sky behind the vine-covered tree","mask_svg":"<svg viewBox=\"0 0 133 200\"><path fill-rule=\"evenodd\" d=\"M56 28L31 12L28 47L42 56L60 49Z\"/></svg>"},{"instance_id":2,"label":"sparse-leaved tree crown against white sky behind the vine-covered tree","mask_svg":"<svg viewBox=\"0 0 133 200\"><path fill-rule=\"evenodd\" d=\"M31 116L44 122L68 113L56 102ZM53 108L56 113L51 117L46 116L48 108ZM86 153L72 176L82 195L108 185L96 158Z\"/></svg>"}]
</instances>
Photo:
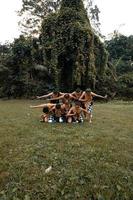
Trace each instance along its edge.
<instances>
[{"instance_id":1,"label":"sparse-leaved tree crown against white sky behind the vine-covered tree","mask_svg":"<svg viewBox=\"0 0 133 200\"><path fill-rule=\"evenodd\" d=\"M22 0L22 9L18 12L21 16L19 22L24 34L38 35L43 19L49 13L59 10L62 0ZM93 0L84 0L92 24L97 30L99 27L99 9Z\"/></svg>"}]
</instances>

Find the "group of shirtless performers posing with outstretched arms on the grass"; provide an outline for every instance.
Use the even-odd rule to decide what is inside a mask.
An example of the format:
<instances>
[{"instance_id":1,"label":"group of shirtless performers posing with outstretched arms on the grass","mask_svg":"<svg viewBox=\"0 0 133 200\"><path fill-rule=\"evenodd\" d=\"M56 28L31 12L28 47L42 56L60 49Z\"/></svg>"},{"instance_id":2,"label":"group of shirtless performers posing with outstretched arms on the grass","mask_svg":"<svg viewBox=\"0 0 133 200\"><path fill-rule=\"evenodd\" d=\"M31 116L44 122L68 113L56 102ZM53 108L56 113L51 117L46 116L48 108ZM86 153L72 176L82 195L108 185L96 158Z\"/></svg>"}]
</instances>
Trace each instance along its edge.
<instances>
[{"instance_id":1,"label":"group of shirtless performers posing with outstretched arms on the grass","mask_svg":"<svg viewBox=\"0 0 133 200\"><path fill-rule=\"evenodd\" d=\"M72 93L62 93L55 90L47 95L37 96L37 99L48 99L48 103L30 107L43 109L41 122L81 123L86 119L91 123L93 97L106 99L107 95L98 95L90 88L85 91L77 88Z\"/></svg>"}]
</instances>

